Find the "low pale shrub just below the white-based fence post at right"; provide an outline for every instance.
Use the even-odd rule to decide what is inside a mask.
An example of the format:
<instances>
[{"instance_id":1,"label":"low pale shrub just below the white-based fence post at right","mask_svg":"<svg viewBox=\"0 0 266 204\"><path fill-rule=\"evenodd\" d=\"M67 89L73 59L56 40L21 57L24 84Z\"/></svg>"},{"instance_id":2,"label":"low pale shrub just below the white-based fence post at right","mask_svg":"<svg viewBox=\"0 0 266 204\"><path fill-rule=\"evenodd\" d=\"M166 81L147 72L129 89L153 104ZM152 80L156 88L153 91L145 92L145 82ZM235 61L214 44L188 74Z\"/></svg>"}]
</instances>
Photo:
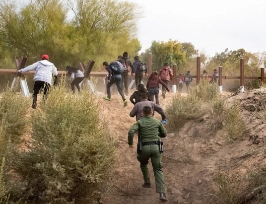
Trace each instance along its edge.
<instances>
[{"instance_id":1,"label":"low pale shrub just below the white-based fence post at right","mask_svg":"<svg viewBox=\"0 0 266 204\"><path fill-rule=\"evenodd\" d=\"M190 95L197 96L202 101L212 101L219 97L219 87L216 83L200 80L199 84L191 89Z\"/></svg>"}]
</instances>

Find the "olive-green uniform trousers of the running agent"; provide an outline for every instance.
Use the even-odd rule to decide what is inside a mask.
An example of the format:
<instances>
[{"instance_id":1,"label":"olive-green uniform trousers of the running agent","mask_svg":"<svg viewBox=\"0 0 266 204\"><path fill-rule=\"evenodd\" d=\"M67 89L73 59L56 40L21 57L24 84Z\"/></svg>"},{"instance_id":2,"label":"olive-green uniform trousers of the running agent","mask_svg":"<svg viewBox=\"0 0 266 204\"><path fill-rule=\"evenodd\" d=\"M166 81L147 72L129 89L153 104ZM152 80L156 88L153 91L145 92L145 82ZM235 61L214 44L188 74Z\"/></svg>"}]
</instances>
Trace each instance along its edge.
<instances>
[{"instance_id":1,"label":"olive-green uniform trousers of the running agent","mask_svg":"<svg viewBox=\"0 0 266 204\"><path fill-rule=\"evenodd\" d=\"M137 160L140 162L140 168L145 183L150 183L148 161L151 159L153 173L155 177L156 193L165 193L162 155L158 144L149 144L142 146L141 154L137 154Z\"/></svg>"}]
</instances>

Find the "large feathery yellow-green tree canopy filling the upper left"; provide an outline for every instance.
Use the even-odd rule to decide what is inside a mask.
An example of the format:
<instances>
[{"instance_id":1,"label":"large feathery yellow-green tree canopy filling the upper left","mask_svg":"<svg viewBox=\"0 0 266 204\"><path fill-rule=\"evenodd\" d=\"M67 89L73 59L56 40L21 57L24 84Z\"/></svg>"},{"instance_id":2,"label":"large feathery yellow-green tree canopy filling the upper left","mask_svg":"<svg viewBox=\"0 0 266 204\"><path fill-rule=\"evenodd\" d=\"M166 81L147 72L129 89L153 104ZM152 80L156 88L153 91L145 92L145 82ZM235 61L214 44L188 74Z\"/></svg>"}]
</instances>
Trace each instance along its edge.
<instances>
[{"instance_id":1,"label":"large feathery yellow-green tree canopy filling the upper left","mask_svg":"<svg viewBox=\"0 0 266 204\"><path fill-rule=\"evenodd\" d=\"M10 54L0 60L26 55L32 63L46 53L60 69L89 59L100 68L125 51L133 56L141 49L134 32L140 14L135 4L115 0L31 0L22 8L3 0L0 53Z\"/></svg>"}]
</instances>

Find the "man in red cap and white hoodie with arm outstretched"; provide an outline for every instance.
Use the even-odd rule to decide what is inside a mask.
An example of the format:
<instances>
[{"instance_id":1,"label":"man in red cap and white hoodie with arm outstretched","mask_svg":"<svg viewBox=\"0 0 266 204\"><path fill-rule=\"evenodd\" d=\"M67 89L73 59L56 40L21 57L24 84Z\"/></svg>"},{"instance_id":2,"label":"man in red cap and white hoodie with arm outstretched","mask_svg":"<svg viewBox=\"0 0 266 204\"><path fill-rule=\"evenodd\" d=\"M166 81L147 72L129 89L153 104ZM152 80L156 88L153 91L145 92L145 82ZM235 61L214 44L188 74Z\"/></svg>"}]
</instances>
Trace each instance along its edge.
<instances>
[{"instance_id":1,"label":"man in red cap and white hoodie with arm outstretched","mask_svg":"<svg viewBox=\"0 0 266 204\"><path fill-rule=\"evenodd\" d=\"M18 72L23 74L27 71L35 70L35 74L33 77L34 86L33 86L33 102L32 108L36 108L37 105L37 95L40 89L43 89L44 99L47 96L47 91L51 87L53 76L57 76L57 68L54 66L53 63L49 62L49 56L43 55L42 60L34 63L26 68L19 69Z\"/></svg>"}]
</instances>

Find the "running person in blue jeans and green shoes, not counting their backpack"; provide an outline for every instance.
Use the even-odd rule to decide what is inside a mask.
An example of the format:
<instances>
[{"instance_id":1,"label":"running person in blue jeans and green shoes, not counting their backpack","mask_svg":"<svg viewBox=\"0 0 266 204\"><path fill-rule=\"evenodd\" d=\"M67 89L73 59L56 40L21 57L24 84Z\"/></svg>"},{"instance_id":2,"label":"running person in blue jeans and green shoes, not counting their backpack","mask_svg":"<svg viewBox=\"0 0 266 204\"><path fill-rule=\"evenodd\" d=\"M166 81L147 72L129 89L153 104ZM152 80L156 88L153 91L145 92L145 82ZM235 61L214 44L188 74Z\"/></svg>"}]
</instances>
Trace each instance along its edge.
<instances>
[{"instance_id":1,"label":"running person in blue jeans and green shoes, not counting their backpack","mask_svg":"<svg viewBox=\"0 0 266 204\"><path fill-rule=\"evenodd\" d=\"M111 66L108 64L108 62L103 63L103 68L105 68L108 71L108 83L106 84L107 89L107 97L104 97L105 100L110 101L111 100L111 86L116 83L117 89L119 94L121 95L123 101L124 101L124 107L128 105L128 102L125 98L125 95L123 93L122 87L121 87L121 81L122 81L122 75L120 72L116 72L112 70Z\"/></svg>"}]
</instances>

